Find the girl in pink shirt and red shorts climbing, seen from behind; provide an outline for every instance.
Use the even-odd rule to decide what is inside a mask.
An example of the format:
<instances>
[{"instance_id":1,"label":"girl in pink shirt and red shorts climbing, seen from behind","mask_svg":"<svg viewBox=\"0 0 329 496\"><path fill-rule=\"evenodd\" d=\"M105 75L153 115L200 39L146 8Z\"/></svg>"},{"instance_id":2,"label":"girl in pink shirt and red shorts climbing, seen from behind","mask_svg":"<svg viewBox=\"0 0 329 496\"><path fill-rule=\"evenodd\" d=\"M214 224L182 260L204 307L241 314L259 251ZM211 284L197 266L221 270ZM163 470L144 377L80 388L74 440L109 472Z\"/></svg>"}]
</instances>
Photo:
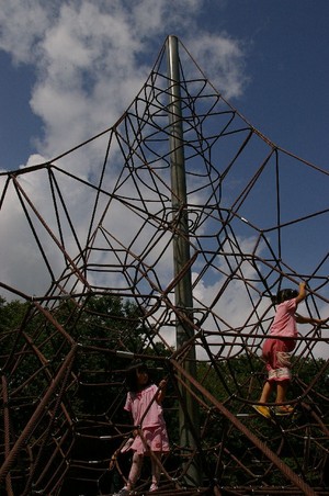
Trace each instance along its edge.
<instances>
[{"instance_id":1,"label":"girl in pink shirt and red shorts climbing, seen from behind","mask_svg":"<svg viewBox=\"0 0 329 496\"><path fill-rule=\"evenodd\" d=\"M321 325L327 319L303 317L296 314L298 303L306 297L306 283L300 282L299 291L281 290L274 303L277 305L275 317L270 329L270 337L263 345L263 358L266 362L269 373L259 403L269 403L273 390L276 387L275 407L276 415L290 415L294 408L290 405L282 405L286 402L286 392L292 380L292 365L290 353L296 346L298 324ZM290 339L282 339L290 338ZM264 417L271 417L271 413L265 405L252 405L252 407Z\"/></svg>"}]
</instances>

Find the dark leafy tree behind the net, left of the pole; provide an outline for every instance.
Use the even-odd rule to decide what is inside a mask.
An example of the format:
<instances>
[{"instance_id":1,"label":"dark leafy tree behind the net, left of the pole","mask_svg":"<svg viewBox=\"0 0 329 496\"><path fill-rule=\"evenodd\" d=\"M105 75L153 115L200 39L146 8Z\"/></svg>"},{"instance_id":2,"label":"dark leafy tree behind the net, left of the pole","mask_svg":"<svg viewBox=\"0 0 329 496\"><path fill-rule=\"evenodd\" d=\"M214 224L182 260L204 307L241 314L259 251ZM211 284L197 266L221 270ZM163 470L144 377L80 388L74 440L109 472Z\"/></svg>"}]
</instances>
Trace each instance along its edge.
<instances>
[{"instance_id":1,"label":"dark leafy tree behind the net, left of the pole","mask_svg":"<svg viewBox=\"0 0 329 496\"><path fill-rule=\"evenodd\" d=\"M0 317L0 360L9 398L11 447L78 343L67 379L54 390L47 407L31 427L24 440L27 451L21 451L11 471L14 494L22 494L35 480L44 488L45 484L55 484L57 471L57 477L66 477L66 463L75 458L90 460L91 444L101 463L121 442L122 438L100 441L101 437L120 433L114 427L117 421L128 424L122 417L127 360L117 351L141 353L145 328L138 307L116 295L87 296L78 303L73 298L59 300L52 308L42 309L33 302L8 303L1 298ZM0 421L3 425L3 418ZM4 455L3 451L2 460ZM46 491L53 489L49 486ZM75 494L73 488L70 494Z\"/></svg>"}]
</instances>

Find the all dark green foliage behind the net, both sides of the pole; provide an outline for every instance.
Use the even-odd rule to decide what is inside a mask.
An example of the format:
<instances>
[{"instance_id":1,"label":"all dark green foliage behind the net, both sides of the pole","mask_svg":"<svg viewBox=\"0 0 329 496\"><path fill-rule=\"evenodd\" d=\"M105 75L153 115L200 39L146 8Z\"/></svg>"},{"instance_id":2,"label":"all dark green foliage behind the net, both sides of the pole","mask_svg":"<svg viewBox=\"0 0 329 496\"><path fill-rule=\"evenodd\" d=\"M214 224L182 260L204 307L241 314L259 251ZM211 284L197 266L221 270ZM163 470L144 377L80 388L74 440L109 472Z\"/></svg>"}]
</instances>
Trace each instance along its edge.
<instances>
[{"instance_id":1,"label":"all dark green foliage behind the net, both sides of the pole","mask_svg":"<svg viewBox=\"0 0 329 496\"><path fill-rule=\"evenodd\" d=\"M126 395L124 372L132 356L127 360L122 352L147 356L156 383L166 375L172 377L169 362L159 360L160 357L170 357L172 350L168 350L161 342L152 341L152 335L145 327L141 317L139 308L132 301L116 295L88 296L79 304L67 300L44 312L30 303L5 302L0 297L0 367L8 383L12 438L16 439L24 429L26 419L33 415L52 385L72 343L78 343L78 351L65 385L56 422L52 426L54 438L60 439L67 431L69 418L72 421L71 436L73 437L73 431L75 436L79 435L72 443L71 455L77 452L78 460L88 460L89 437L112 436L116 422L123 429L125 425L128 426L129 418L123 413ZM303 398L313 409L316 409L318 403L324 410L324 402L329 396L328 374L324 373L325 360L296 358L294 362L294 379L288 397ZM320 484L316 466L321 463L321 453L317 452L315 444L306 447L303 425L310 426L309 436L314 439L321 439L322 432L310 418L306 418L309 415L307 409L293 420L293 433L286 436L282 444L281 432L276 436L273 424L252 414L250 402L259 397L265 379L263 362L259 357L240 354L228 360L200 362L196 379L232 415L241 414L248 429L277 452L286 465L296 473L305 471L308 481L314 485ZM311 397L307 390L310 383ZM55 408L56 401L57 396L54 394L54 399L47 406L49 413ZM252 485L254 482L259 484L258 477L269 461L214 408L206 395L202 401L201 443L202 449L208 453L205 473L220 478L223 486ZM175 387L169 381L164 417L172 444L180 443L178 407ZM42 442L43 432L48 428L48 419L45 412L29 441L31 443L33 439L35 451ZM0 421L3 425L3 419ZM280 428L290 429L291 422L291 419L282 419ZM71 442L70 437L67 442ZM98 451L100 446L97 442L94 446ZM224 446L225 450L222 451ZM101 449L106 453L113 451L109 444L102 444ZM306 466L303 459L306 450L314 461L309 466ZM24 458L20 463L24 472ZM248 470L243 470L243 466ZM280 471L269 466L264 483L277 485L284 484L284 481Z\"/></svg>"}]
</instances>

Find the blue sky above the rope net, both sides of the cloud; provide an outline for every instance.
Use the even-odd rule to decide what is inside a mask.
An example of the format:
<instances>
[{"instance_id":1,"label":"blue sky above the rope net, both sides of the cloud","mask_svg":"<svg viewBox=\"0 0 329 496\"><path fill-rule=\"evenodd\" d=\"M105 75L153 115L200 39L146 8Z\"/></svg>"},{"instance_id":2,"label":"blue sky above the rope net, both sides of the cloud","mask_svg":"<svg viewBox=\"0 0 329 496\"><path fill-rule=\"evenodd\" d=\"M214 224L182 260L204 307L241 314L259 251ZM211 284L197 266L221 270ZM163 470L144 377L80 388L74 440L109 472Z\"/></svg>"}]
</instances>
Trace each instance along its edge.
<instances>
[{"instance_id":1,"label":"blue sky above the rope net, both sides of the cloud","mask_svg":"<svg viewBox=\"0 0 329 496\"><path fill-rule=\"evenodd\" d=\"M20 15L19 2L11 0L1 3L1 23L8 22L5 13ZM63 7L86 2L55 3ZM190 18L186 15L189 22L177 23L169 19L162 32L150 36L145 52L141 49L139 53L144 64L151 67L166 34L170 32L181 37L191 50L189 24L193 33L197 26L200 33L224 34L239 46L239 71L241 78L247 80L240 94L231 95L230 103L274 143L327 168L328 1L206 0L193 3L198 5L195 11L190 8ZM8 4L16 13L12 13ZM42 2L30 2L32 14L33 9L39 9L36 7L39 4ZM30 30L27 22L25 29ZM13 31L11 36L20 40L21 30L18 23L16 33ZM37 58L18 55L18 43L8 42L3 30L0 33L0 167L15 169L26 164L31 154L43 153L44 119L30 103L33 88L43 76ZM21 40L23 44L24 36ZM207 74L207 61L197 63ZM218 89L222 91L222 88ZM226 88L223 90L226 91ZM99 131L99 126L90 128L90 135Z\"/></svg>"}]
</instances>

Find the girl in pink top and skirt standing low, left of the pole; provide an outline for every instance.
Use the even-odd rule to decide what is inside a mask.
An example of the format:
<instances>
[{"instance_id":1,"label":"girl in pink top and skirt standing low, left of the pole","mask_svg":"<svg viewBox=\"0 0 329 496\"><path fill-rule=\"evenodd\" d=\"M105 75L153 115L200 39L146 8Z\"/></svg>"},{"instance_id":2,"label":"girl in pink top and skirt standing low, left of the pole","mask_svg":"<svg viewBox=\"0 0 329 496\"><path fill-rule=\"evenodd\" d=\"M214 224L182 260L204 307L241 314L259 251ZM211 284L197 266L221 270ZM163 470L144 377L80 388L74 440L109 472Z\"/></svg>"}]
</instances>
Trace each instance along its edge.
<instances>
[{"instance_id":1,"label":"girl in pink top and skirt standing low, left of the pole","mask_svg":"<svg viewBox=\"0 0 329 496\"><path fill-rule=\"evenodd\" d=\"M131 494L139 477L145 455L151 456L152 481L149 492L157 491L160 478L160 464L157 461L160 460L161 453L169 451L161 406L167 381L162 380L159 387L152 384L147 365L138 361L127 370L126 384L128 393L124 409L132 414L137 429L134 431L134 442L129 448L134 454L128 482L116 496Z\"/></svg>"}]
</instances>

